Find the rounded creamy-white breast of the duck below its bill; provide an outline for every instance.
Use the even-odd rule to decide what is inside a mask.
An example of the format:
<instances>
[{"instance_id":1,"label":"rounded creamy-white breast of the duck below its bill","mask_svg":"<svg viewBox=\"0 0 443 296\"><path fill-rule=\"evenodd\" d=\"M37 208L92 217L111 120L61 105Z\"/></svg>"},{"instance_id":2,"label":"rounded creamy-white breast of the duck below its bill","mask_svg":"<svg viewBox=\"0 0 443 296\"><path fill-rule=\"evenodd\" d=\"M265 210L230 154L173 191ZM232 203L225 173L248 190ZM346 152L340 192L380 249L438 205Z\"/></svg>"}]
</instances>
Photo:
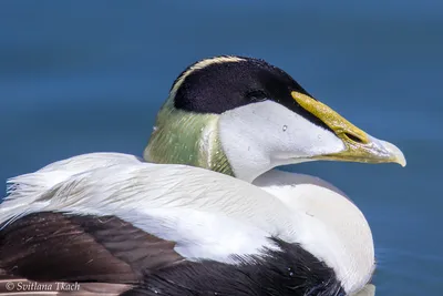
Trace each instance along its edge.
<instances>
[{"instance_id":1,"label":"rounded creamy-white breast of the duck below its bill","mask_svg":"<svg viewBox=\"0 0 443 296\"><path fill-rule=\"evenodd\" d=\"M293 212L322 222L321 229L313 223L307 225L299 233L300 242L336 269L347 290L359 290L368 283L375 264L372 233L361 211L344 193L318 177L277 170L259 176L254 184ZM324 225L326 233L319 237Z\"/></svg>"}]
</instances>

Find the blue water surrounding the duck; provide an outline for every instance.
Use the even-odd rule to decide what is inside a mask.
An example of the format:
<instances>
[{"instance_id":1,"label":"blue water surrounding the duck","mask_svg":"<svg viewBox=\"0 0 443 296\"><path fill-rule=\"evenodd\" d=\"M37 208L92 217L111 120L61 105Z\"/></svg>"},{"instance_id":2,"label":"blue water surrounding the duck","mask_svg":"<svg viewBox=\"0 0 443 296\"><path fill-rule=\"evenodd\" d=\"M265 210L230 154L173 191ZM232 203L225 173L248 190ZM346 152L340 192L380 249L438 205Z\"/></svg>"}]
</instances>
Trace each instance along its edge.
<instances>
[{"instance_id":1,"label":"blue water surrounding the duck","mask_svg":"<svg viewBox=\"0 0 443 296\"><path fill-rule=\"evenodd\" d=\"M1 1L0 178L99 151L141 155L175 76L264 58L408 166L307 163L372 227L377 295L443 288L443 2ZM0 190L4 191L4 185Z\"/></svg>"}]
</instances>

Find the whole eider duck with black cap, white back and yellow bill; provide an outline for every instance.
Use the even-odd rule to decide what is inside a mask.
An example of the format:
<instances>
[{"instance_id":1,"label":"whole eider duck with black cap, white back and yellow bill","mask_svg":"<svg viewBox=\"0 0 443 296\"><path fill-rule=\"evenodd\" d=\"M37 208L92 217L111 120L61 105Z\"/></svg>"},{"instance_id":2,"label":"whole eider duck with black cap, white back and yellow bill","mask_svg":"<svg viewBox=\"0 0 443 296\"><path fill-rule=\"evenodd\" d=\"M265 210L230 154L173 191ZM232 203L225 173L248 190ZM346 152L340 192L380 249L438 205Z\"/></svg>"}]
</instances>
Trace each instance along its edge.
<instances>
[{"instance_id":1,"label":"whole eider duck with black cap, white back and yellow bill","mask_svg":"<svg viewBox=\"0 0 443 296\"><path fill-rule=\"evenodd\" d=\"M11 178L0 274L82 282L85 295L354 295L374 269L363 214L327 182L272 169L405 164L282 70L239 57L177 78L143 156L84 154Z\"/></svg>"}]
</instances>

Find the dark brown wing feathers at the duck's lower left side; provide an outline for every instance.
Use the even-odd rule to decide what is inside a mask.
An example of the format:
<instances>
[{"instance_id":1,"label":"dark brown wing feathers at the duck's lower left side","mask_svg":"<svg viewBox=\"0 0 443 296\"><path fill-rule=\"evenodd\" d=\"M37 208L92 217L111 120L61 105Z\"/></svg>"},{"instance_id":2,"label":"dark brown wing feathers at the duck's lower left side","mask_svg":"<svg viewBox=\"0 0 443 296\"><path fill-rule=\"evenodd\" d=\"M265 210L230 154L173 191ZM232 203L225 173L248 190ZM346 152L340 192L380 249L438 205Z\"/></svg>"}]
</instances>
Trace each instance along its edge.
<instances>
[{"instance_id":1,"label":"dark brown wing feathers at the duck's lower left side","mask_svg":"<svg viewBox=\"0 0 443 296\"><path fill-rule=\"evenodd\" d=\"M182 262L174 246L116 216L29 214L0 231L0 278L136 284Z\"/></svg>"}]
</instances>

